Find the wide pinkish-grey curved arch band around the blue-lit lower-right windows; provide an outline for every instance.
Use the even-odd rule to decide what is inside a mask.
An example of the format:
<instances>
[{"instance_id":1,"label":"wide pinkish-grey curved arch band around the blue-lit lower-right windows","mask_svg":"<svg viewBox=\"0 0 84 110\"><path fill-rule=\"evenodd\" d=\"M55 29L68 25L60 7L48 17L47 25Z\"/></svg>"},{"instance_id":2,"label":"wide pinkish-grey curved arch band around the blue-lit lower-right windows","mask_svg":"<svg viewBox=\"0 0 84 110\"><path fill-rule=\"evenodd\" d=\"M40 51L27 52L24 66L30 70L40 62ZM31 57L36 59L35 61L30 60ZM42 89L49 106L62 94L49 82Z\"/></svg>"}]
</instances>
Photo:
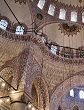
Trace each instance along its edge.
<instances>
[{"instance_id":1,"label":"wide pinkish-grey curved arch band around the blue-lit lower-right windows","mask_svg":"<svg viewBox=\"0 0 84 110\"><path fill-rule=\"evenodd\" d=\"M56 88L50 98L50 110L57 110L61 103L61 98L66 95L71 88L76 88L78 86L84 86L84 75L81 74L81 72L78 75L68 78Z\"/></svg>"}]
</instances>

